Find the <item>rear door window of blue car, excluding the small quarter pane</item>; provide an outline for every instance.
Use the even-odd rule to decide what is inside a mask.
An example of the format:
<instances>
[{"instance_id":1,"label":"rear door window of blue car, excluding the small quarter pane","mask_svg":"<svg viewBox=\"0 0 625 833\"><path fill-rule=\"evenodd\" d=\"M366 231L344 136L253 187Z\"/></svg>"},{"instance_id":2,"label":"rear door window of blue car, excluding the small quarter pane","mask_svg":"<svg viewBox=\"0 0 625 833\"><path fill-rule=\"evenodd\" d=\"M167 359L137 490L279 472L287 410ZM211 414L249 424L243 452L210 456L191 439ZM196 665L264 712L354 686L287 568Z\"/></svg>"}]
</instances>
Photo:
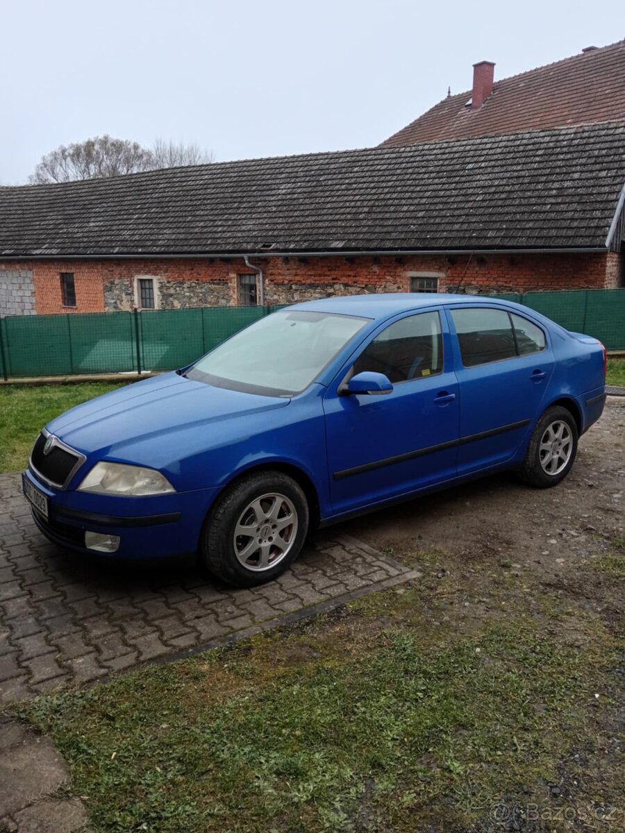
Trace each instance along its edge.
<instances>
[{"instance_id":1,"label":"rear door window of blue car, excluding the small quarter pane","mask_svg":"<svg viewBox=\"0 0 625 833\"><path fill-rule=\"evenodd\" d=\"M505 310L473 307L452 310L452 317L464 367L516 357L512 324Z\"/></svg>"}]
</instances>

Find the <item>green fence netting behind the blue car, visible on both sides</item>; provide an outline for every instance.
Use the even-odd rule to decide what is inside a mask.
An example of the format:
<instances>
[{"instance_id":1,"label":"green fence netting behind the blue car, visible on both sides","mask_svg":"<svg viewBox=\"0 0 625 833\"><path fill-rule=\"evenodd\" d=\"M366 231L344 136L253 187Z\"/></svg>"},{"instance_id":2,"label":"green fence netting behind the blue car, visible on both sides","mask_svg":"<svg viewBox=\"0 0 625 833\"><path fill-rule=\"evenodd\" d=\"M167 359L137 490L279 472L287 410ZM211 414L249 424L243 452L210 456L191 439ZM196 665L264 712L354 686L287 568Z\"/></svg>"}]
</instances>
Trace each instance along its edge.
<instances>
[{"instance_id":1,"label":"green fence netting behind the blue car, visible on both sides","mask_svg":"<svg viewBox=\"0 0 625 833\"><path fill-rule=\"evenodd\" d=\"M625 350L625 289L509 292L574 332ZM280 307L202 307L0 318L0 377L172 370Z\"/></svg>"}]
</instances>

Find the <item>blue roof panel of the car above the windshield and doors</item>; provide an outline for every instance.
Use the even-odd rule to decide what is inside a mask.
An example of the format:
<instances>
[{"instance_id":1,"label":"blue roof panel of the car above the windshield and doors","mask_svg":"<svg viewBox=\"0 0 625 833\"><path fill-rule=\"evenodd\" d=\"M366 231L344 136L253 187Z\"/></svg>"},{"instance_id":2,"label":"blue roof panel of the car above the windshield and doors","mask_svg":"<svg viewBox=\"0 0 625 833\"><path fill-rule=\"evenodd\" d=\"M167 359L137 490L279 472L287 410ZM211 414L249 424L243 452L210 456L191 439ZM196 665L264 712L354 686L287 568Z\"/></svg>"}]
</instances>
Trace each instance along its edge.
<instances>
[{"instance_id":1,"label":"blue roof panel of the car above the windshield and doors","mask_svg":"<svg viewBox=\"0 0 625 833\"><path fill-rule=\"evenodd\" d=\"M343 295L333 298L321 298L318 301L306 301L293 304L288 309L306 309L311 312L335 312L342 315L361 316L374 320L428 307L448 306L452 303L505 304L509 307L522 309L518 304L502 302L498 298L485 295L450 295L443 292L386 292L368 295Z\"/></svg>"}]
</instances>

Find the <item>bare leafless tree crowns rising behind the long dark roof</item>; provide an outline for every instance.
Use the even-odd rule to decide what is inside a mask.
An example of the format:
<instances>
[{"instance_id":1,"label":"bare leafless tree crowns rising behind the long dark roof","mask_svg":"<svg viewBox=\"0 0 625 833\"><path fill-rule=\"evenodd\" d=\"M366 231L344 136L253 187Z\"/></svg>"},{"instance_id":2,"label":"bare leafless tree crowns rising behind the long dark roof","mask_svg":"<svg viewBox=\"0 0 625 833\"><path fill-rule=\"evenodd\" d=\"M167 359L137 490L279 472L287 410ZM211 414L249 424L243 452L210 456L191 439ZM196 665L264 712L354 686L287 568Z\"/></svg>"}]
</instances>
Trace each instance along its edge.
<instances>
[{"instance_id":1,"label":"bare leafless tree crowns rising behind the long dark roof","mask_svg":"<svg viewBox=\"0 0 625 833\"><path fill-rule=\"evenodd\" d=\"M212 161L212 155L198 145L175 144L159 139L154 148L149 149L127 139L97 136L86 142L61 145L47 153L28 181L32 185L43 185L47 182L101 179Z\"/></svg>"}]
</instances>

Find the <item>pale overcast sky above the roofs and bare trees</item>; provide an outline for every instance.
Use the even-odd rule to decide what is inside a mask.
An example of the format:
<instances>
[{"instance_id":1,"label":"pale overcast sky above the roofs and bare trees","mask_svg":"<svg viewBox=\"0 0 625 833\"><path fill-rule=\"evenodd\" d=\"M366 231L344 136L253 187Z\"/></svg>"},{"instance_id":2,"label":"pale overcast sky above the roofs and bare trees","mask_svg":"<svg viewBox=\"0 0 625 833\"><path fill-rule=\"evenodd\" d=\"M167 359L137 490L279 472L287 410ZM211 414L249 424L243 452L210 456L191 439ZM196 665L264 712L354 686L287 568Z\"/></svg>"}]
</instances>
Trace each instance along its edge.
<instances>
[{"instance_id":1,"label":"pale overcast sky above the roofs and bare trees","mask_svg":"<svg viewBox=\"0 0 625 833\"><path fill-rule=\"evenodd\" d=\"M216 161L371 147L447 94L625 37L622 0L0 0L0 183L108 133Z\"/></svg>"}]
</instances>

